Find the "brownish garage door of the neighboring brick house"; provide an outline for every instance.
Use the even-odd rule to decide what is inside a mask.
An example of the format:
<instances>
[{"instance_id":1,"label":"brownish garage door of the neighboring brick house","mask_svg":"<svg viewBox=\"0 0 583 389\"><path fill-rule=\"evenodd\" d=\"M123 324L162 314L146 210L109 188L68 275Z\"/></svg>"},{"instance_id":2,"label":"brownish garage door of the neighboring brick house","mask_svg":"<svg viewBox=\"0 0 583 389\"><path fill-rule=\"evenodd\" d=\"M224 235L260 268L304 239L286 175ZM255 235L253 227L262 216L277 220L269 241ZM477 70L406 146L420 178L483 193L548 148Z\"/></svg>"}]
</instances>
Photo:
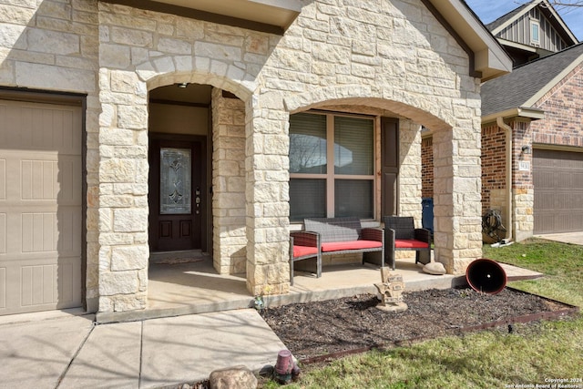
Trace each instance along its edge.
<instances>
[{"instance_id":1,"label":"brownish garage door of the neighboring brick house","mask_svg":"<svg viewBox=\"0 0 583 389\"><path fill-rule=\"evenodd\" d=\"M535 149L535 233L583 231L583 153Z\"/></svg>"}]
</instances>

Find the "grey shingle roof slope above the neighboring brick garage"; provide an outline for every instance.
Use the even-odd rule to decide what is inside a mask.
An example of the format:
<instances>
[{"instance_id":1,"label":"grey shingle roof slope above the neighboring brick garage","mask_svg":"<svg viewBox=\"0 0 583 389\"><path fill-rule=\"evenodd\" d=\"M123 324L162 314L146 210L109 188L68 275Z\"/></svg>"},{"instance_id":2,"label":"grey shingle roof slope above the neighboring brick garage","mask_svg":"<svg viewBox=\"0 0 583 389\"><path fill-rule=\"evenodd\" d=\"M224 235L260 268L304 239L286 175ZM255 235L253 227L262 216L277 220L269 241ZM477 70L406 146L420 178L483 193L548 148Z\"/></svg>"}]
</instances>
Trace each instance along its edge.
<instances>
[{"instance_id":1,"label":"grey shingle roof slope above the neighboring brick garage","mask_svg":"<svg viewBox=\"0 0 583 389\"><path fill-rule=\"evenodd\" d=\"M482 85L482 116L524 107L531 97L579 56L583 56L583 43L516 67L506 76L487 81Z\"/></svg>"}]
</instances>

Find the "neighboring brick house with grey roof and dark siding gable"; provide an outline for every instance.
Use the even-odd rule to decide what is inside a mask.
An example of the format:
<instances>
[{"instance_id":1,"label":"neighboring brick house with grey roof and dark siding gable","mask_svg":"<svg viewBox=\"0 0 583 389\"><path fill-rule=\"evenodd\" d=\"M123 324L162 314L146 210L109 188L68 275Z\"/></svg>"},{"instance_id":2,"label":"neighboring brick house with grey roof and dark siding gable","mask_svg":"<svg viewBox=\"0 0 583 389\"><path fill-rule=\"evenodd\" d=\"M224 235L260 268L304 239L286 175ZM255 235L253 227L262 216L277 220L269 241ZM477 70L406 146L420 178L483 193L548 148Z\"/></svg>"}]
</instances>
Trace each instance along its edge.
<instances>
[{"instance_id":1,"label":"neighboring brick house with grey roof and dark siding gable","mask_svg":"<svg viewBox=\"0 0 583 389\"><path fill-rule=\"evenodd\" d=\"M498 236L510 240L583 231L583 47L546 0L487 27L523 65L481 89L482 212L499 211ZM424 197L433 191L431 144L425 136Z\"/></svg>"}]
</instances>

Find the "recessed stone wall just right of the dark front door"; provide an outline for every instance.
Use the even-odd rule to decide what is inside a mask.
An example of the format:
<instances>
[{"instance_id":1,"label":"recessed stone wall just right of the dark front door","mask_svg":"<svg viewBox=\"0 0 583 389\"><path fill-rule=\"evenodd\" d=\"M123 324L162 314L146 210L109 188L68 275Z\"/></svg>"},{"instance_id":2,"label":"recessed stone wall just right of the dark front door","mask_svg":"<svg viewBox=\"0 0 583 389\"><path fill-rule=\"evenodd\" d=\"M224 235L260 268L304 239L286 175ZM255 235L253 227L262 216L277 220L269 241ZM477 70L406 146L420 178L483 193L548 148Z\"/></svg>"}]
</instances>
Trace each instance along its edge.
<instances>
[{"instance_id":1,"label":"recessed stone wall just right of the dark front door","mask_svg":"<svg viewBox=\"0 0 583 389\"><path fill-rule=\"evenodd\" d=\"M243 273L245 231L245 104L212 89L213 263L220 274Z\"/></svg>"}]
</instances>

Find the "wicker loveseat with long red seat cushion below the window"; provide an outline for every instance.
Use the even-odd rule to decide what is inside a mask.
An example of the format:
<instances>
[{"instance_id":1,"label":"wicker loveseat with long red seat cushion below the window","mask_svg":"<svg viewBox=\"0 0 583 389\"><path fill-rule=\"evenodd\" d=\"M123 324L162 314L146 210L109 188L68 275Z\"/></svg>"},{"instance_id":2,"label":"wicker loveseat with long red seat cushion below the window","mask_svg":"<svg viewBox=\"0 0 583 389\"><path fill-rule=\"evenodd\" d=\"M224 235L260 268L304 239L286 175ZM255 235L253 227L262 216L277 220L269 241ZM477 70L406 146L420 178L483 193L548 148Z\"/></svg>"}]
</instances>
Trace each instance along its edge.
<instances>
[{"instance_id":1,"label":"wicker loveseat with long red seat cushion below the window","mask_svg":"<svg viewBox=\"0 0 583 389\"><path fill-rule=\"evenodd\" d=\"M310 218L303 220L304 231L295 231L290 244L290 280L293 262L316 261L316 276L322 275L322 256L363 253L363 262L384 266L384 231L363 228L358 218ZM318 248L314 252L314 248Z\"/></svg>"}]
</instances>

